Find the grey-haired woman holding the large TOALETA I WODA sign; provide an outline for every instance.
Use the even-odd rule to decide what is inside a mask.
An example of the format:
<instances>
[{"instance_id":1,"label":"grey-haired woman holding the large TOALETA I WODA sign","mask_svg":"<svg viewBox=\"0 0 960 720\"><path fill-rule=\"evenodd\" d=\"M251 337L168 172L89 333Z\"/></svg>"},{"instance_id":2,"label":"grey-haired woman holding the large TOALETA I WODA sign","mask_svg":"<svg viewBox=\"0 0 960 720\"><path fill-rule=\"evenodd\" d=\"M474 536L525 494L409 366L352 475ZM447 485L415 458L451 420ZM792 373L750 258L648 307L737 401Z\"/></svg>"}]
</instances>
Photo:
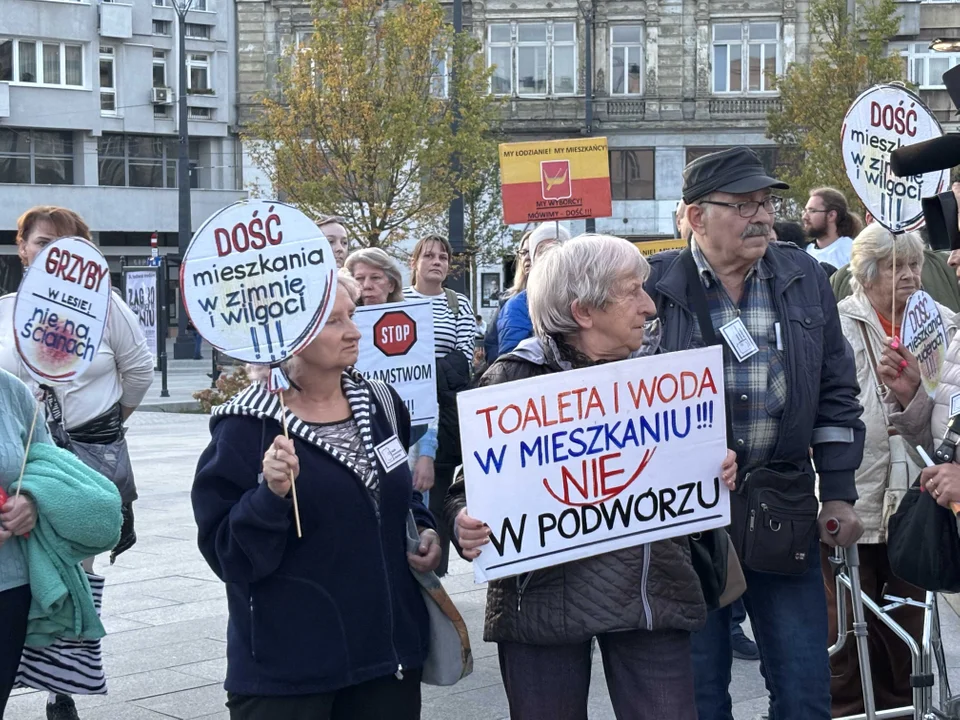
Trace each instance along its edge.
<instances>
[{"instance_id":1,"label":"grey-haired woman holding the large TOALETA I WODA sign","mask_svg":"<svg viewBox=\"0 0 960 720\"><path fill-rule=\"evenodd\" d=\"M648 274L636 248L608 236L582 236L540 258L527 286L537 342L501 356L481 386L635 357L655 312ZM732 486L733 453L721 475ZM451 487L446 518L463 557L475 559L490 528L468 513L465 490L462 480ZM492 580L484 639L499 646L514 720L587 717L593 637L618 717L694 720L690 633L705 617L679 537Z\"/></svg>"}]
</instances>

